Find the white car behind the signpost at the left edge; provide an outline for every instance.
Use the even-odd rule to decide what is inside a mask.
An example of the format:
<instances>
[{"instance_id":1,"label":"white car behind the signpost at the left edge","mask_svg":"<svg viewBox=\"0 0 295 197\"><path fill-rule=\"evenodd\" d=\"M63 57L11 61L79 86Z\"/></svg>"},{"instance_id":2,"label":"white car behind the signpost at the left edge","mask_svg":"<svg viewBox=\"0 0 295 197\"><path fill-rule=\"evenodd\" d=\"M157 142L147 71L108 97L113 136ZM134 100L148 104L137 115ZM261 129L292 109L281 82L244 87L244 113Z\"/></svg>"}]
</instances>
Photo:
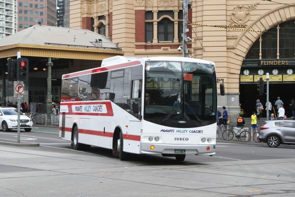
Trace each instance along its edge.
<instances>
[{"instance_id":1,"label":"white car behind the signpost at the left edge","mask_svg":"<svg viewBox=\"0 0 295 197\"><path fill-rule=\"evenodd\" d=\"M0 124L2 131L17 129L17 109L14 107L0 107ZM20 129L29 132L32 130L32 121L20 113Z\"/></svg>"}]
</instances>

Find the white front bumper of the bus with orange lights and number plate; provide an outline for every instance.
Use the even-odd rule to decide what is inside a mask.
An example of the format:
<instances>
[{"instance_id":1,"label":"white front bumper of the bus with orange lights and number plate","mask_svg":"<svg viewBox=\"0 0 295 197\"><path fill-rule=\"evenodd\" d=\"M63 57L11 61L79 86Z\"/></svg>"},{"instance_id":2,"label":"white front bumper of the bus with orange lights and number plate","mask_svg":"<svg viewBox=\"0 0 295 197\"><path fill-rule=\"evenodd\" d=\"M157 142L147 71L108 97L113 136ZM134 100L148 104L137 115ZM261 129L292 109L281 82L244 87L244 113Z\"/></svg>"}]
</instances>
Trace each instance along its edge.
<instances>
[{"instance_id":1,"label":"white front bumper of the bus with orange lights and number plate","mask_svg":"<svg viewBox=\"0 0 295 197\"><path fill-rule=\"evenodd\" d=\"M152 149L154 148L154 149ZM183 153L183 150L185 153ZM142 143L141 153L143 154L195 154L214 155L215 145L190 145L190 144L156 144Z\"/></svg>"}]
</instances>

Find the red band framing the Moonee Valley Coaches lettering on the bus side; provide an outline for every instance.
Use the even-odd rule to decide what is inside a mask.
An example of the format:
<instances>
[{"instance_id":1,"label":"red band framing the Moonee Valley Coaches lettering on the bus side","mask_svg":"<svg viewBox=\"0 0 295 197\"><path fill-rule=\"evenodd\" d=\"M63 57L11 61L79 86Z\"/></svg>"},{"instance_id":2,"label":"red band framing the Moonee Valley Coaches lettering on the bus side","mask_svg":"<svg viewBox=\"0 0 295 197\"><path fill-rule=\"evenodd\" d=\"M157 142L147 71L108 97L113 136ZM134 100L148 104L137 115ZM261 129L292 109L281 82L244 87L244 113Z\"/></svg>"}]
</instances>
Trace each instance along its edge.
<instances>
[{"instance_id":1,"label":"red band framing the Moonee Valley Coaches lettering on the bus side","mask_svg":"<svg viewBox=\"0 0 295 197\"><path fill-rule=\"evenodd\" d=\"M68 112L66 115L86 115L86 116L114 116L111 101L101 101L101 102L62 102L60 105L67 105ZM87 112L73 112L72 105L106 105L107 113L87 113Z\"/></svg>"}]
</instances>

